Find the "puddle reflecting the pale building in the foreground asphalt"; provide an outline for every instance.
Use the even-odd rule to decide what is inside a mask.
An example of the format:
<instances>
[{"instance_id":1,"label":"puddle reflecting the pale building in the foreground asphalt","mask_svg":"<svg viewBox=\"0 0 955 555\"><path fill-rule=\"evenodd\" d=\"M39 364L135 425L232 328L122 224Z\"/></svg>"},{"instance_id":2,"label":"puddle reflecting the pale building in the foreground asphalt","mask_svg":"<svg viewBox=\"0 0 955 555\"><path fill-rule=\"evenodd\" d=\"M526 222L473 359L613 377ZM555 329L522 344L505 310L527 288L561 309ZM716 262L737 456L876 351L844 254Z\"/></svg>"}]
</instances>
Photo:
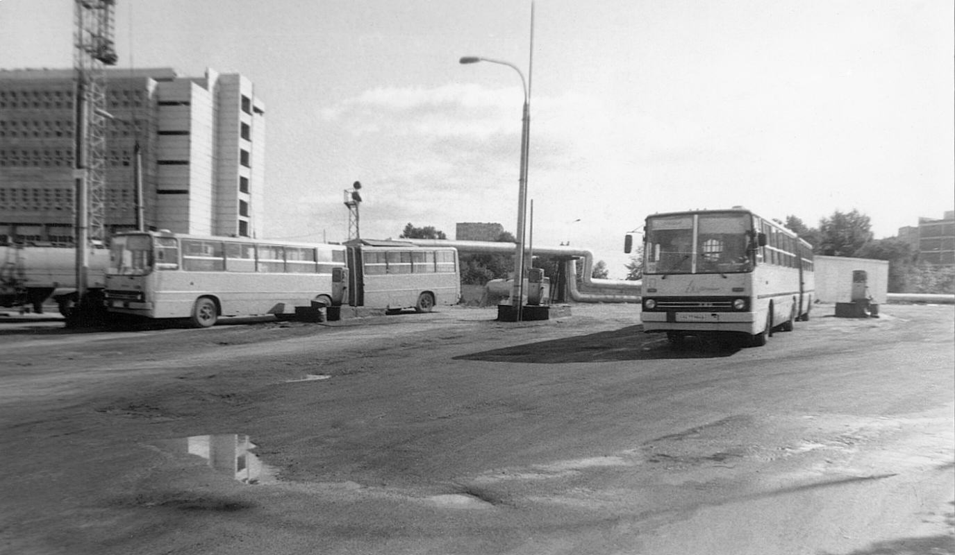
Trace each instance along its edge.
<instances>
[{"instance_id":1,"label":"puddle reflecting the pale building in the foreground asphalt","mask_svg":"<svg viewBox=\"0 0 955 555\"><path fill-rule=\"evenodd\" d=\"M278 483L275 470L252 452L255 443L242 434L190 436L156 442L159 449L176 455L194 455L207 466L241 483Z\"/></svg>"}]
</instances>

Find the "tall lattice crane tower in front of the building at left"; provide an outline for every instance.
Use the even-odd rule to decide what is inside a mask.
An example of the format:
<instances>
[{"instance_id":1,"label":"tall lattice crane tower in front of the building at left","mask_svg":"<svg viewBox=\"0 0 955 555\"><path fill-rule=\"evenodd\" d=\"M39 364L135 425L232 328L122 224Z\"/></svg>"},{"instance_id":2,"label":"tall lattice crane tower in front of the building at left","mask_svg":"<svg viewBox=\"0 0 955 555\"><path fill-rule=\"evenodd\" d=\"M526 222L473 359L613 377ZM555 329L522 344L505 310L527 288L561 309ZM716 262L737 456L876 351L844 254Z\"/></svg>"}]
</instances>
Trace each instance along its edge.
<instances>
[{"instance_id":1,"label":"tall lattice crane tower in front of the building at left","mask_svg":"<svg viewBox=\"0 0 955 555\"><path fill-rule=\"evenodd\" d=\"M117 63L116 0L74 0L74 180L76 187L76 311L86 298L88 249L106 238L106 75Z\"/></svg>"}]
</instances>

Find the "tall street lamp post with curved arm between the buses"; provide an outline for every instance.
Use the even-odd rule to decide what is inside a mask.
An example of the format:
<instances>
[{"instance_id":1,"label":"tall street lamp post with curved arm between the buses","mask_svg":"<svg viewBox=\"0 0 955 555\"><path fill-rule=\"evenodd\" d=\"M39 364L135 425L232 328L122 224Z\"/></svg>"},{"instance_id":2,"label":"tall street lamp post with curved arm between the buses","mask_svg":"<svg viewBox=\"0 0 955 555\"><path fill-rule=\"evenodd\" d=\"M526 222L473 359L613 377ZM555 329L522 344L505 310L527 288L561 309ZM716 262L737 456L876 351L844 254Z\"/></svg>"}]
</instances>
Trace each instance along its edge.
<instances>
[{"instance_id":1,"label":"tall street lamp post with curved arm between the buses","mask_svg":"<svg viewBox=\"0 0 955 555\"><path fill-rule=\"evenodd\" d=\"M530 59L527 64L527 79L520 69L510 62L495 60L492 58L483 58L480 56L464 56L460 59L462 64L476 64L477 62L489 62L507 66L520 75L520 85L524 92L523 116L521 118L520 130L520 189L518 193L518 245L514 257L514 285L511 287L511 306L515 307L517 320L520 321L521 309L523 307L524 295L524 236L525 222L524 216L527 214L527 153L530 143L531 129L531 69L534 64L534 3L531 3L531 48Z\"/></svg>"}]
</instances>

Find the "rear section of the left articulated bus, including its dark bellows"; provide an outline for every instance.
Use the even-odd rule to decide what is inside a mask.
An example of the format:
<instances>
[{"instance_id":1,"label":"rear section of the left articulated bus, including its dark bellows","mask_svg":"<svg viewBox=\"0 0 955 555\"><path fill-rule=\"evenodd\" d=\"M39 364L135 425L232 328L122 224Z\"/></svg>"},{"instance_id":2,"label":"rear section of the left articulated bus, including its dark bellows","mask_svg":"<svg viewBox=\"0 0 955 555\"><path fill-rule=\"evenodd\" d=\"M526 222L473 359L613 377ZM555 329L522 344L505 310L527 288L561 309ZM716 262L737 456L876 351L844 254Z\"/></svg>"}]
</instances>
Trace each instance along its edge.
<instances>
[{"instance_id":1,"label":"rear section of the left articulated bus, including its dark bellows","mask_svg":"<svg viewBox=\"0 0 955 555\"><path fill-rule=\"evenodd\" d=\"M457 304L461 279L453 247L418 247L403 241L356 239L348 245L351 306L390 311Z\"/></svg>"}]
</instances>

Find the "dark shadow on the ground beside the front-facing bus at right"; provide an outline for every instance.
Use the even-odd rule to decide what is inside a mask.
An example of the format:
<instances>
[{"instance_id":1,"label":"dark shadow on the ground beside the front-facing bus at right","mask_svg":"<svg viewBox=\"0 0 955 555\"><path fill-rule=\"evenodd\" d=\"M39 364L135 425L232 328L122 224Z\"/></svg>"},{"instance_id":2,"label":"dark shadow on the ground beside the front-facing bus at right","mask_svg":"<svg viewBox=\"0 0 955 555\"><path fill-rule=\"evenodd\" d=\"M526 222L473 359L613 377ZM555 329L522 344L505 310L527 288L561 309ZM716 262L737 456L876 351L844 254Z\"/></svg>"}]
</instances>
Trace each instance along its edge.
<instances>
[{"instance_id":1,"label":"dark shadow on the ground beside the front-facing bus at right","mask_svg":"<svg viewBox=\"0 0 955 555\"><path fill-rule=\"evenodd\" d=\"M567 362L617 362L623 360L717 359L732 357L739 345L704 338L687 338L680 348L670 347L661 335L648 335L643 328L627 326L619 330L586 336L551 339L515 345L503 349L461 355L454 360L560 364Z\"/></svg>"}]
</instances>

